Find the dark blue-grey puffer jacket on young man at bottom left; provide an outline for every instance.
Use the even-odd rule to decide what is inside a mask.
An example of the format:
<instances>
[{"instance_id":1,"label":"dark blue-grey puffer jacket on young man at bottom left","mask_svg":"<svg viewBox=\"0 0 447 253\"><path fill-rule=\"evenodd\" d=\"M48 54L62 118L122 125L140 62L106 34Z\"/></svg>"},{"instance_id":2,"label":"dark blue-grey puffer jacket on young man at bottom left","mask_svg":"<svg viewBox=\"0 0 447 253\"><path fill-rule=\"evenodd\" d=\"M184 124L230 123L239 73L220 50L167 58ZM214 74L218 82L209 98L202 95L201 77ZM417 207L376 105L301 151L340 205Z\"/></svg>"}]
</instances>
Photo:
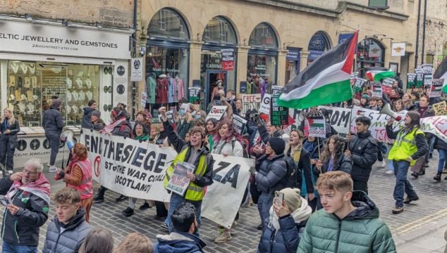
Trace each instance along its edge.
<instances>
[{"instance_id":1,"label":"dark blue-grey puffer jacket on young man at bottom left","mask_svg":"<svg viewBox=\"0 0 447 253\"><path fill-rule=\"evenodd\" d=\"M62 233L61 228L65 229ZM78 212L67 224L60 223L55 216L53 222L48 225L42 253L76 253L91 229L92 226L85 221L83 207L78 209Z\"/></svg>"}]
</instances>

